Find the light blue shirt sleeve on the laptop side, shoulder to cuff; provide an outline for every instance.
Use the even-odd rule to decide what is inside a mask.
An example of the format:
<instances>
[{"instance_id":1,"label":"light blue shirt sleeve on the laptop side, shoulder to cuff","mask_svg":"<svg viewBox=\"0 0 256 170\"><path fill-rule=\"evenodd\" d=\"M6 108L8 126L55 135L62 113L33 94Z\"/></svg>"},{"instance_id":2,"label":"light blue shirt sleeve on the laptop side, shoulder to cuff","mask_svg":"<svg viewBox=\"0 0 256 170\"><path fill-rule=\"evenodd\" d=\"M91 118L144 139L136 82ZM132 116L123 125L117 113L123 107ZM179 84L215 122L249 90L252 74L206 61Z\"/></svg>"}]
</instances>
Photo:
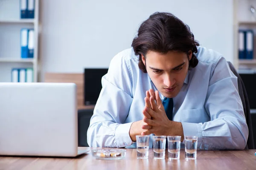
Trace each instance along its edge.
<instances>
[{"instance_id":1,"label":"light blue shirt sleeve on the laptop side, shoulder to cuff","mask_svg":"<svg viewBox=\"0 0 256 170\"><path fill-rule=\"evenodd\" d=\"M124 123L133 100L127 63L117 54L102 77L102 90L87 130L90 147L126 147L133 143L129 135L132 122Z\"/></svg>"}]
</instances>

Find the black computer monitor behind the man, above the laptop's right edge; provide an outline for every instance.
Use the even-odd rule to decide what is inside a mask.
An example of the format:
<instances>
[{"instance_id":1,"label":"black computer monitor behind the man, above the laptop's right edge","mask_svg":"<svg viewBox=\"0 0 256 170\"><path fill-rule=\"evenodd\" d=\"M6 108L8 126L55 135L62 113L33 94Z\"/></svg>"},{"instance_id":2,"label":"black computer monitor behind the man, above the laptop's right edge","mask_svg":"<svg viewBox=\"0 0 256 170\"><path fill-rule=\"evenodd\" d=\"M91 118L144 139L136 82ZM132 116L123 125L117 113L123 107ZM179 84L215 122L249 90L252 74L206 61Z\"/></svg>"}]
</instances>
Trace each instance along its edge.
<instances>
[{"instance_id":1,"label":"black computer monitor behind the man, above the laptop's right edge","mask_svg":"<svg viewBox=\"0 0 256 170\"><path fill-rule=\"evenodd\" d=\"M102 89L102 77L108 68L84 68L84 105L95 105Z\"/></svg>"}]
</instances>

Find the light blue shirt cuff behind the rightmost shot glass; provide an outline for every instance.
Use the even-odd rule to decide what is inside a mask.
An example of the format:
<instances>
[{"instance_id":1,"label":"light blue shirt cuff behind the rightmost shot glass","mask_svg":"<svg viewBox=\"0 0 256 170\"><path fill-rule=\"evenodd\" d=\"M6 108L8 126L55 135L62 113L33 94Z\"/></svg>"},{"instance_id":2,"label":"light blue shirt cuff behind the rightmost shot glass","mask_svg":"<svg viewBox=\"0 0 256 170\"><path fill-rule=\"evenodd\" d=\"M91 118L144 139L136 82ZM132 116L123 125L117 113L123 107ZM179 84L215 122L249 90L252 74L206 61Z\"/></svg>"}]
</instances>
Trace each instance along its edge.
<instances>
[{"instance_id":1,"label":"light blue shirt cuff behind the rightmost shot glass","mask_svg":"<svg viewBox=\"0 0 256 170\"><path fill-rule=\"evenodd\" d=\"M188 123L188 122L181 122L183 127L183 134L185 142L185 136L198 136L198 147L201 146L202 143L202 128L199 123Z\"/></svg>"}]
</instances>

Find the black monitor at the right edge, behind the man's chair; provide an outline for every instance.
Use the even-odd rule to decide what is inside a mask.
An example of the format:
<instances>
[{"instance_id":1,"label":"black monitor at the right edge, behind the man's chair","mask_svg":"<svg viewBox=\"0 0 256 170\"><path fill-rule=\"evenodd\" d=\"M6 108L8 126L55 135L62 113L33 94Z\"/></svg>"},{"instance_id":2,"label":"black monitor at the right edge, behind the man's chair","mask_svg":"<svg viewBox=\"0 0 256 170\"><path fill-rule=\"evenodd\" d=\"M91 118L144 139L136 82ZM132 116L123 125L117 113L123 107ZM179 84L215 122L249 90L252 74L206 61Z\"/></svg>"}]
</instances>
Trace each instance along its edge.
<instances>
[{"instance_id":1,"label":"black monitor at the right edge, behind the man's chair","mask_svg":"<svg viewBox=\"0 0 256 170\"><path fill-rule=\"evenodd\" d=\"M239 73L247 92L250 109L256 109L256 74Z\"/></svg>"}]
</instances>

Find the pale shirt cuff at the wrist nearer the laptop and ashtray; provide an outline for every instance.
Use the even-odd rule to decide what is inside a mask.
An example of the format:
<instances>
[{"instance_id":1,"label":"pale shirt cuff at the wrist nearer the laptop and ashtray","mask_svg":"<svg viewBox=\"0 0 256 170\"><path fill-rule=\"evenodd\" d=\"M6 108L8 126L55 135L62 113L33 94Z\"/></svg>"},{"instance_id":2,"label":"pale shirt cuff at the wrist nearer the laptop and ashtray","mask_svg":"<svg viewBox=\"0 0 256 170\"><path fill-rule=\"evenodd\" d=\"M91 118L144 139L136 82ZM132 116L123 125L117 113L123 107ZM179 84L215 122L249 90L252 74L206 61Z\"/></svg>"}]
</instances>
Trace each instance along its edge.
<instances>
[{"instance_id":1,"label":"pale shirt cuff at the wrist nearer the laptop and ashtray","mask_svg":"<svg viewBox=\"0 0 256 170\"><path fill-rule=\"evenodd\" d=\"M130 137L130 128L131 128L131 123L125 123L125 124L120 124L116 127L116 141L117 141L117 146L118 147L126 147L130 146L134 142L131 140Z\"/></svg>"}]
</instances>

